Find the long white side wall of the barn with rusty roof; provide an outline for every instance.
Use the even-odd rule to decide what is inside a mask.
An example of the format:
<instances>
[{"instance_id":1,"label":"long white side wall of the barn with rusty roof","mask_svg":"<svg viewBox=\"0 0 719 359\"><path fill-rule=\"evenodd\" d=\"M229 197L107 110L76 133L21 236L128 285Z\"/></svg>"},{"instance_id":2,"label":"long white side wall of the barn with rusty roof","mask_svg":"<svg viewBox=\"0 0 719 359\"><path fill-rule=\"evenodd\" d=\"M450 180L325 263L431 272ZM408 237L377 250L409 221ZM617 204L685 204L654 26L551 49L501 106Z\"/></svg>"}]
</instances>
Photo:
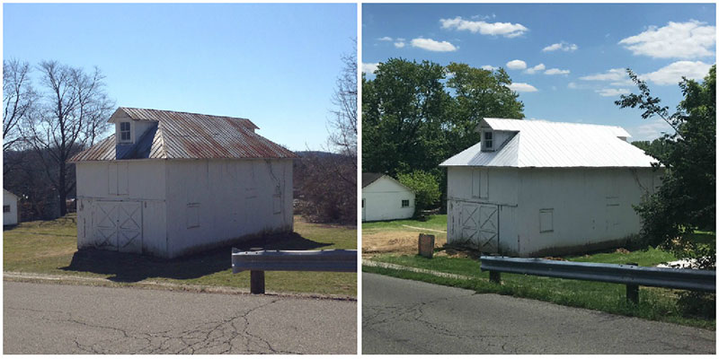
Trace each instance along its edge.
<instances>
[{"instance_id":1,"label":"long white side wall of the barn with rusty roof","mask_svg":"<svg viewBox=\"0 0 719 359\"><path fill-rule=\"evenodd\" d=\"M167 237L174 258L262 232L291 232L291 160L167 162Z\"/></svg>"}]
</instances>

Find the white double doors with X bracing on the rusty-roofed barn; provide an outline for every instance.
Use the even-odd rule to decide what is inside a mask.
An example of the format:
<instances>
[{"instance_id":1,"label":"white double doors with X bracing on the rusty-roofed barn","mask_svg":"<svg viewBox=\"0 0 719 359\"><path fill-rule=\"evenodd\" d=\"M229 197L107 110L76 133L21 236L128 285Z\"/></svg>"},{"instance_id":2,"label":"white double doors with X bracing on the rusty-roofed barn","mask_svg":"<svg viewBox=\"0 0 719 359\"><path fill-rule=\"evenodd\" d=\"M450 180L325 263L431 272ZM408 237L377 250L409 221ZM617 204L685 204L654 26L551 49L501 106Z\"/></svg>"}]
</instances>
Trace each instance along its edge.
<instances>
[{"instance_id":1,"label":"white double doors with X bracing on the rusty-roofed barn","mask_svg":"<svg viewBox=\"0 0 719 359\"><path fill-rule=\"evenodd\" d=\"M93 237L101 250L142 252L140 202L97 201L93 207Z\"/></svg>"}]
</instances>

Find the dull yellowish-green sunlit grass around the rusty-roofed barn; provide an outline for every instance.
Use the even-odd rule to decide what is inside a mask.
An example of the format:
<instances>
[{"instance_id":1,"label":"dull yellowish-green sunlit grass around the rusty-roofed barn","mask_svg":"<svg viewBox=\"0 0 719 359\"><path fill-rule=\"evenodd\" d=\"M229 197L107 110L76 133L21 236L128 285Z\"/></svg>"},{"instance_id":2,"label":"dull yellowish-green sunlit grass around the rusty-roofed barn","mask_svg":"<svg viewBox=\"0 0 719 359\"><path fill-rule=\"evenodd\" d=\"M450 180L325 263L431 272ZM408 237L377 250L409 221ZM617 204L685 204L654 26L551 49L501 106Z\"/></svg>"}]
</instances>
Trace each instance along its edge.
<instances>
[{"instance_id":1,"label":"dull yellowish-green sunlit grass around the rusty-roofed barn","mask_svg":"<svg viewBox=\"0 0 719 359\"><path fill-rule=\"evenodd\" d=\"M106 250L76 250L74 215L35 221L3 231L3 270L107 278L119 284L138 282L249 288L250 274L232 274L231 247L172 260ZM236 243L249 250L357 249L353 226L306 223L295 216L295 232ZM357 296L357 274L333 272L267 272L268 292L302 292Z\"/></svg>"}]
</instances>

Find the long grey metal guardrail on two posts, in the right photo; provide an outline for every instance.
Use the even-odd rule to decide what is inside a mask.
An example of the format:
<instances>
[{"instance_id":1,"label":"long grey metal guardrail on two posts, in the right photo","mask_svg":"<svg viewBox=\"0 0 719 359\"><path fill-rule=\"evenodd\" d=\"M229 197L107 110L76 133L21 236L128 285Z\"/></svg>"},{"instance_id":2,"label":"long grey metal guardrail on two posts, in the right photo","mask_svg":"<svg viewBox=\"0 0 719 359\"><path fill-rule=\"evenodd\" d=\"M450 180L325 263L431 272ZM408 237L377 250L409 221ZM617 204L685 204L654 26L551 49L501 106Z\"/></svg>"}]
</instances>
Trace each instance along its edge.
<instances>
[{"instance_id":1,"label":"long grey metal guardrail on two posts, in the right photo","mask_svg":"<svg viewBox=\"0 0 719 359\"><path fill-rule=\"evenodd\" d=\"M626 299L639 302L639 285L716 292L716 271L638 267L635 264L582 263L564 260L511 257L480 257L481 270L500 283L500 273L551 276L626 285Z\"/></svg>"}]
</instances>

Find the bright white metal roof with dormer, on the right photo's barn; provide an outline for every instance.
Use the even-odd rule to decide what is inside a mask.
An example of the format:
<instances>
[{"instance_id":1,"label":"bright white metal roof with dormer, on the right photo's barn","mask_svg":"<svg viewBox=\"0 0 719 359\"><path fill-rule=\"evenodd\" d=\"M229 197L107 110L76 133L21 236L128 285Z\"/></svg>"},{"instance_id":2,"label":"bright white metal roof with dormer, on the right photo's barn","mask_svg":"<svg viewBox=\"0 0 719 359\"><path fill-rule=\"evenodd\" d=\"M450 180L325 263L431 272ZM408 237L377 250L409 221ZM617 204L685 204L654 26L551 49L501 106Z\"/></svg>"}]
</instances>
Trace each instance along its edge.
<instances>
[{"instance_id":1,"label":"bright white metal roof with dormer, on the right photo's barn","mask_svg":"<svg viewBox=\"0 0 719 359\"><path fill-rule=\"evenodd\" d=\"M656 162L643 150L619 137L622 127L484 118L479 127L507 131L510 138L496 151L481 143L440 163L440 166L486 167L651 167Z\"/></svg>"}]
</instances>

